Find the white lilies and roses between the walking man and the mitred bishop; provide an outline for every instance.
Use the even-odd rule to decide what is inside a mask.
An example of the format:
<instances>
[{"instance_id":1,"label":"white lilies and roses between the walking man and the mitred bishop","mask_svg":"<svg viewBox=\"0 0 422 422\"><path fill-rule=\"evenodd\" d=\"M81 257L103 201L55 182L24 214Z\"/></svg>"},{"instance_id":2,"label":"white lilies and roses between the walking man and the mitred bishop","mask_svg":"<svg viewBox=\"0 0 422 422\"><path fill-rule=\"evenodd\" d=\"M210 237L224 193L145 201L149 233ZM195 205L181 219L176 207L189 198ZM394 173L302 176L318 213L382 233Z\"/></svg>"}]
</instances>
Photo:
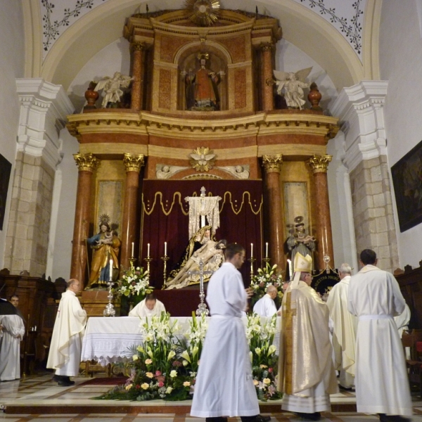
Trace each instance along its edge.
<instances>
[{"instance_id":1,"label":"white lilies and roses between the walking man and the mitred bishop","mask_svg":"<svg viewBox=\"0 0 422 422\"><path fill-rule=\"evenodd\" d=\"M261 316L248 316L246 338L250 347L252 376L258 399L262 402L276 400L281 397L277 391L276 374L279 369L279 357L273 345L276 334L276 314L262 324Z\"/></svg>"}]
</instances>

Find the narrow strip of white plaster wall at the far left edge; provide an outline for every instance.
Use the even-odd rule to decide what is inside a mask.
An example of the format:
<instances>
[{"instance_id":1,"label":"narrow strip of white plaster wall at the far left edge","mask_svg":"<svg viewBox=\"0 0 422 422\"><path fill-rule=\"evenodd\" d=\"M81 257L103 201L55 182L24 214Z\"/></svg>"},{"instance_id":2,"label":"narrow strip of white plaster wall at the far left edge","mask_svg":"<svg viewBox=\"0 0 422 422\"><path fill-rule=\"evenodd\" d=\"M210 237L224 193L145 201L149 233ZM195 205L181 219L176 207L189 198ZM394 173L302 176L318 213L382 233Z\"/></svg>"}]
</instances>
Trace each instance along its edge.
<instances>
[{"instance_id":1,"label":"narrow strip of white plaster wall at the far left edge","mask_svg":"<svg viewBox=\"0 0 422 422\"><path fill-rule=\"evenodd\" d=\"M15 170L20 106L15 79L25 65L23 11L20 1L0 1L0 154L12 163L3 230L0 231L0 269L4 267L7 222ZM0 177L2 175L0 174Z\"/></svg>"}]
</instances>

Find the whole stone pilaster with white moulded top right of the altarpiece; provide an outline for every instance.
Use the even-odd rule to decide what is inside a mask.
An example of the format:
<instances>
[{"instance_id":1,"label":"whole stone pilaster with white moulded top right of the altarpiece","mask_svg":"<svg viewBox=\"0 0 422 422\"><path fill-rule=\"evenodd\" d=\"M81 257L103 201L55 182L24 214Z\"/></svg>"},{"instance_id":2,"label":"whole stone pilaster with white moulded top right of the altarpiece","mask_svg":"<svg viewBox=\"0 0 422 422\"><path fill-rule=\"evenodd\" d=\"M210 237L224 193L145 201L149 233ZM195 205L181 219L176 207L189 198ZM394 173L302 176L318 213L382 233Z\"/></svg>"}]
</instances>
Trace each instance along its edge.
<instances>
[{"instance_id":1,"label":"whole stone pilaster with white moulded top right of the altarpiece","mask_svg":"<svg viewBox=\"0 0 422 422\"><path fill-rule=\"evenodd\" d=\"M362 81L340 92L331 113L343 121L357 254L371 248L378 267L399 267L383 104L388 82Z\"/></svg>"}]
</instances>

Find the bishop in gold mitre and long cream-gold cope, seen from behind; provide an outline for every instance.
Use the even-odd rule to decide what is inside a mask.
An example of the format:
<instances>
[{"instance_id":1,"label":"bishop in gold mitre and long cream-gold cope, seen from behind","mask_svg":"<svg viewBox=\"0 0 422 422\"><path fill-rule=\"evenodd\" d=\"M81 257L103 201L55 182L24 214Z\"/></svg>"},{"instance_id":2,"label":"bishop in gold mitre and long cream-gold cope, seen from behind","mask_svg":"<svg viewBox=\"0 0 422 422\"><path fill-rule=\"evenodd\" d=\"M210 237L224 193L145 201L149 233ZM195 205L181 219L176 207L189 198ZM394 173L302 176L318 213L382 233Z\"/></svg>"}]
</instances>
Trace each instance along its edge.
<instances>
[{"instance_id":1,"label":"bishop in gold mitre and long cream-gold cope, seen from behind","mask_svg":"<svg viewBox=\"0 0 422 422\"><path fill-rule=\"evenodd\" d=\"M328 307L312 283L312 257L295 254L294 276L283 296L279 390L281 409L310 421L330 411L330 394L338 392L333 348L328 329Z\"/></svg>"}]
</instances>

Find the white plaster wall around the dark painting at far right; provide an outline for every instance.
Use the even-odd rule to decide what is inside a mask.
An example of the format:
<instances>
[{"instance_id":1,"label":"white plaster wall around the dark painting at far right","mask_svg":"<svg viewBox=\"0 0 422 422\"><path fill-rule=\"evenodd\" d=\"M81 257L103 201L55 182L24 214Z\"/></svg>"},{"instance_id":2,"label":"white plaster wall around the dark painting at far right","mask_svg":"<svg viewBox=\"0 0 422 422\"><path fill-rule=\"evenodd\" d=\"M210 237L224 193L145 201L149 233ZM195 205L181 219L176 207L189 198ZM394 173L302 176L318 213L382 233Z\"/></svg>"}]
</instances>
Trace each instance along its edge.
<instances>
[{"instance_id":1,"label":"white plaster wall around the dark painting at far right","mask_svg":"<svg viewBox=\"0 0 422 422\"><path fill-rule=\"evenodd\" d=\"M416 1L383 1L381 13L379 51L381 79L388 80L384 118L390 167L422 140L422 41ZM418 267L422 224L400 233L394 210L400 267Z\"/></svg>"}]
</instances>

